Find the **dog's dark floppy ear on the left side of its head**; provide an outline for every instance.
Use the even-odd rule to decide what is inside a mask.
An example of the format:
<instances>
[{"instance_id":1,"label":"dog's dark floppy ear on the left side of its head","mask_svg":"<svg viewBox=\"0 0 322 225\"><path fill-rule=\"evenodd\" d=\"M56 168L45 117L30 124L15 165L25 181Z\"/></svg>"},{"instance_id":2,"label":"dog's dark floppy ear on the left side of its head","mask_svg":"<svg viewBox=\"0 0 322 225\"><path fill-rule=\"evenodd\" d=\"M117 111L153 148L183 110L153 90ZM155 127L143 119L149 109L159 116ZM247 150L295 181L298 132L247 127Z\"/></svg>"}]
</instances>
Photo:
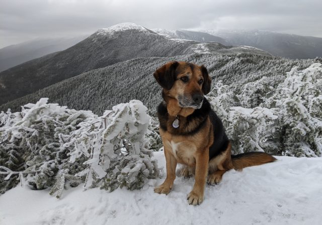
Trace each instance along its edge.
<instances>
[{"instance_id":1,"label":"dog's dark floppy ear on the left side of its head","mask_svg":"<svg viewBox=\"0 0 322 225\"><path fill-rule=\"evenodd\" d=\"M165 89L170 90L176 80L176 68L179 62L169 62L155 70L153 73L156 81Z\"/></svg>"}]
</instances>

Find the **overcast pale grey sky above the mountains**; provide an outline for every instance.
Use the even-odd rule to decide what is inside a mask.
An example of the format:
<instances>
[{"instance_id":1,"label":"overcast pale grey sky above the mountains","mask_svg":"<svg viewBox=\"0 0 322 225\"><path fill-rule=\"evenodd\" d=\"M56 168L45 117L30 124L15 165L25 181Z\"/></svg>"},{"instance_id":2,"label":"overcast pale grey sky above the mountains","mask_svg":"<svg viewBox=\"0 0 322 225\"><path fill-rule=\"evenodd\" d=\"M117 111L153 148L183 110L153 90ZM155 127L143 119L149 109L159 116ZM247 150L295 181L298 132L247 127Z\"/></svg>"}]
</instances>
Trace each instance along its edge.
<instances>
[{"instance_id":1,"label":"overcast pale grey sky above the mountains","mask_svg":"<svg viewBox=\"0 0 322 225\"><path fill-rule=\"evenodd\" d=\"M322 37L321 0L0 0L0 48L123 22L164 29L261 29Z\"/></svg>"}]
</instances>

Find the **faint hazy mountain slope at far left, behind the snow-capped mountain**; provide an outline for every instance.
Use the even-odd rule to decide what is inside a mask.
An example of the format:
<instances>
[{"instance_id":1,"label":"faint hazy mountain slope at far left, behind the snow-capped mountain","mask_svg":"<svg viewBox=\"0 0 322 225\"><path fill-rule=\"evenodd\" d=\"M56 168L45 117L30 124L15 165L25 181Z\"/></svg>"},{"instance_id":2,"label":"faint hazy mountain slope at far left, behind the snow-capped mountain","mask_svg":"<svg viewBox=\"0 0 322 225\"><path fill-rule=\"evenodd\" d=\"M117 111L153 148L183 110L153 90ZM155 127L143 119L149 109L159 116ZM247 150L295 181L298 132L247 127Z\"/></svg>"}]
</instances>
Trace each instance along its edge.
<instances>
[{"instance_id":1,"label":"faint hazy mountain slope at far left, behind the snow-capped mountain","mask_svg":"<svg viewBox=\"0 0 322 225\"><path fill-rule=\"evenodd\" d=\"M0 72L29 60L65 50L84 40L87 36L74 38L35 39L0 49Z\"/></svg>"}]
</instances>

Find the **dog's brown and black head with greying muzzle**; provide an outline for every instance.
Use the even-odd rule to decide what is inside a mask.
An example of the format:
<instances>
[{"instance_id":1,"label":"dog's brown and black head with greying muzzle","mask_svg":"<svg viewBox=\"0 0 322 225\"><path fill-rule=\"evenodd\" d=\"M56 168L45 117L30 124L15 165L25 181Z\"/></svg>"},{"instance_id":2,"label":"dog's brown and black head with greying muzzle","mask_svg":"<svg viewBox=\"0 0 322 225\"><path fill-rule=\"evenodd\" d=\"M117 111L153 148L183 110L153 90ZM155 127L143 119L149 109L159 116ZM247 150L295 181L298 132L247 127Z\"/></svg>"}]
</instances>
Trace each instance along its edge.
<instances>
[{"instance_id":1,"label":"dog's brown and black head with greying muzzle","mask_svg":"<svg viewBox=\"0 0 322 225\"><path fill-rule=\"evenodd\" d=\"M169 62L153 73L164 93L178 100L180 107L200 108L210 91L211 78L206 67L188 62Z\"/></svg>"}]
</instances>

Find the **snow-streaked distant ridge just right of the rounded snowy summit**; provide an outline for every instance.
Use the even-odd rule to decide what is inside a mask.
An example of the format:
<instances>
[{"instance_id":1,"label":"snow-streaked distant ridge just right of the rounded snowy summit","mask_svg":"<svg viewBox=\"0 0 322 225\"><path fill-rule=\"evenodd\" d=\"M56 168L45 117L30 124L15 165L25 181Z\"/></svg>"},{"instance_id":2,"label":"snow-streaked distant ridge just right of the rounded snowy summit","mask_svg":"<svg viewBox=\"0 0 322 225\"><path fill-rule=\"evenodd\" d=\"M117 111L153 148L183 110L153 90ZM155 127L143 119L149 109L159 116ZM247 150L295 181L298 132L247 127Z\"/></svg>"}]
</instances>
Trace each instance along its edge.
<instances>
[{"instance_id":1,"label":"snow-streaked distant ridge just right of the rounded snowy summit","mask_svg":"<svg viewBox=\"0 0 322 225\"><path fill-rule=\"evenodd\" d=\"M167 38L178 38L178 39L186 39L198 42L219 42L220 44L227 45L228 43L220 37L199 31L187 31L187 30L166 30L166 29L151 29L153 32L163 35Z\"/></svg>"}]
</instances>

